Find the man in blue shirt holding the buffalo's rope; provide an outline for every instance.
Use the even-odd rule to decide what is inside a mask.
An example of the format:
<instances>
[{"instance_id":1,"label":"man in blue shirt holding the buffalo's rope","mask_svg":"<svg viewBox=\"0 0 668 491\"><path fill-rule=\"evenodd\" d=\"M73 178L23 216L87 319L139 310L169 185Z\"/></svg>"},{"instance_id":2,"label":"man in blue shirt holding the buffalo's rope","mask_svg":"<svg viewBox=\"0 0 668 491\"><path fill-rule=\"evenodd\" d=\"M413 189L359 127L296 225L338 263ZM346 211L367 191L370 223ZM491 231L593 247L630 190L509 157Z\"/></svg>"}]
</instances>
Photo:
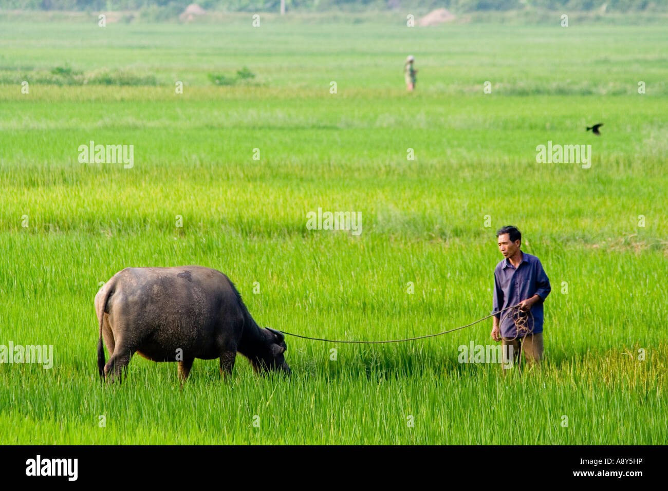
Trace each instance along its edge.
<instances>
[{"instance_id":1,"label":"man in blue shirt holding the buffalo's rope","mask_svg":"<svg viewBox=\"0 0 668 491\"><path fill-rule=\"evenodd\" d=\"M520 249L522 233L517 227L504 226L496 232L496 237L505 259L494 269L494 312L520 304L520 313L516 317L526 322L527 330L520 329L518 332L513 321L513 309L508 309L494 315L492 339L502 341L504 353L509 350L506 346L512 346L515 355L522 351L528 363L538 363L543 354L542 304L552 290L550 280L538 258ZM528 315L529 311L531 315Z\"/></svg>"}]
</instances>

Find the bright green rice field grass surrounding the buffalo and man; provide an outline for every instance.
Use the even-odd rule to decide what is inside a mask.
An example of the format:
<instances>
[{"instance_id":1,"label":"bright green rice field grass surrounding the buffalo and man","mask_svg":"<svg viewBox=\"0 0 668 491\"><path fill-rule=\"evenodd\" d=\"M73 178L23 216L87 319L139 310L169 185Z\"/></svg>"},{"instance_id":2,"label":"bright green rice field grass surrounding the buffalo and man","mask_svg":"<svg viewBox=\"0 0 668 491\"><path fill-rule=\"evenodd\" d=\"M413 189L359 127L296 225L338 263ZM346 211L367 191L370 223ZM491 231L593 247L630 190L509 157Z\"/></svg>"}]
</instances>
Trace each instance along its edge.
<instances>
[{"instance_id":1,"label":"bright green rice field grass surrounding the buffalo and man","mask_svg":"<svg viewBox=\"0 0 668 491\"><path fill-rule=\"evenodd\" d=\"M51 42L0 29L1 69L132 64L163 85L0 86L0 344L55 353L52 369L0 365L3 444L665 442L659 30L79 26L81 46L72 26L39 27ZM266 85L209 86L240 66ZM79 163L90 140L133 144L134 167ZM548 140L591 144L591 168L536 164ZM308 230L318 207L360 211L362 234ZM506 224L552 281L540 369L458 363L460 345L492 343L487 322L397 345L288 337L291 379L239 355L229 381L197 360L182 390L174 364L140 357L122 385L98 381L93 298L124 267L219 269L275 329L409 337L489 313Z\"/></svg>"}]
</instances>

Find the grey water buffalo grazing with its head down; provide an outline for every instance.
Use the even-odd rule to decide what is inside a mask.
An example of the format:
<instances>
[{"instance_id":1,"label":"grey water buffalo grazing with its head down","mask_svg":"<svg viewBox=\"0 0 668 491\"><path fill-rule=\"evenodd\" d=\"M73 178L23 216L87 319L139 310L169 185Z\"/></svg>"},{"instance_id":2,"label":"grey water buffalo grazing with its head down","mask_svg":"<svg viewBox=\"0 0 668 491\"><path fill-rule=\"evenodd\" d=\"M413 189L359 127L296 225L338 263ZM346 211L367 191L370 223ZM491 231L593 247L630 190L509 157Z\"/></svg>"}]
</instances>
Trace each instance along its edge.
<instances>
[{"instance_id":1,"label":"grey water buffalo grazing with its head down","mask_svg":"<svg viewBox=\"0 0 668 491\"><path fill-rule=\"evenodd\" d=\"M95 296L100 323L100 377L122 377L135 352L153 361L178 361L183 382L195 358L220 358L232 373L238 351L255 371L290 373L283 334L259 327L236 288L220 271L201 266L126 268ZM110 353L104 363L102 339Z\"/></svg>"}]
</instances>

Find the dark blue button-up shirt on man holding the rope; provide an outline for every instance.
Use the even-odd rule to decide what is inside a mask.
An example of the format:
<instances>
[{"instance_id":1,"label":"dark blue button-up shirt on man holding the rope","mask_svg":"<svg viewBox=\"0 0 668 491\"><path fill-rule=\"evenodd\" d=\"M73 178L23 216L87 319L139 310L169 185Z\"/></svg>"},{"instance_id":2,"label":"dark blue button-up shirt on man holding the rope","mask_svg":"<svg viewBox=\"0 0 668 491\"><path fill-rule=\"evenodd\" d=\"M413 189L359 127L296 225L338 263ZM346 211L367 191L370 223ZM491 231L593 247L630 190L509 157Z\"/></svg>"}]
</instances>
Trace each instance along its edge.
<instances>
[{"instance_id":1,"label":"dark blue button-up shirt on man holding the rope","mask_svg":"<svg viewBox=\"0 0 668 491\"><path fill-rule=\"evenodd\" d=\"M523 252L522 263L517 269L510 264L508 259L504 259L494 269L494 312L538 295L540 301L531 307L533 325L531 324L531 316L529 316L527 327L530 333L542 333L542 304L551 290L550 280L536 256ZM512 315L506 316L509 311L496 315L496 318L502 319L500 323L502 337L514 338L517 337L517 329L512 321ZM520 332L520 336L524 334L526 333Z\"/></svg>"}]
</instances>

